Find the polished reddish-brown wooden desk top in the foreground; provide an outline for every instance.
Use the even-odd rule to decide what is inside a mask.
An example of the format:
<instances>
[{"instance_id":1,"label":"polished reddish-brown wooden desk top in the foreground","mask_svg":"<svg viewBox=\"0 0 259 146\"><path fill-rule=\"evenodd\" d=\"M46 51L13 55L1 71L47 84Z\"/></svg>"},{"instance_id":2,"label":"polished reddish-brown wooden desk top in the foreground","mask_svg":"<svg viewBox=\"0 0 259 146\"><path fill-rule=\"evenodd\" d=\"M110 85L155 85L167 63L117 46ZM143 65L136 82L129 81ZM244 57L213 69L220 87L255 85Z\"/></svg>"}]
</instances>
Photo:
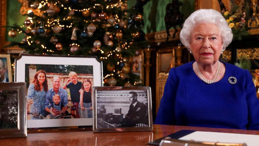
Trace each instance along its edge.
<instances>
[{"instance_id":1,"label":"polished reddish-brown wooden desk top in the foreground","mask_svg":"<svg viewBox=\"0 0 259 146\"><path fill-rule=\"evenodd\" d=\"M104 132L93 133L91 128L78 129L31 129L28 130L28 136L24 138L1 139L0 145L4 146L81 146L81 145L148 145L148 142L164 137L171 133L187 129L197 131L256 134L259 131L238 130L238 129L220 129L205 127L187 127L172 125L154 124L152 131L142 132Z\"/></svg>"}]
</instances>

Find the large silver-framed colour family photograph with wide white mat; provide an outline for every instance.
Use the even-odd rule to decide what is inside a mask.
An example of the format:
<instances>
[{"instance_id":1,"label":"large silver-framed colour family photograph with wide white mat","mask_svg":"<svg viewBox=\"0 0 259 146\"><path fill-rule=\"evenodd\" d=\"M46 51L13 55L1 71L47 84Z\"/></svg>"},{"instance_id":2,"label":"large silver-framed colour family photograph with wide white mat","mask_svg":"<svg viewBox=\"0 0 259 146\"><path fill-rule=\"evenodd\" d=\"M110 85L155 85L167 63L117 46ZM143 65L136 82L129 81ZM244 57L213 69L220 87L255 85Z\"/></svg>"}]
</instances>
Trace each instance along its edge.
<instances>
[{"instance_id":1,"label":"large silver-framed colour family photograph with wide white mat","mask_svg":"<svg viewBox=\"0 0 259 146\"><path fill-rule=\"evenodd\" d=\"M26 82L27 126L92 126L92 87L103 86L97 57L21 54L15 81Z\"/></svg>"}]
</instances>

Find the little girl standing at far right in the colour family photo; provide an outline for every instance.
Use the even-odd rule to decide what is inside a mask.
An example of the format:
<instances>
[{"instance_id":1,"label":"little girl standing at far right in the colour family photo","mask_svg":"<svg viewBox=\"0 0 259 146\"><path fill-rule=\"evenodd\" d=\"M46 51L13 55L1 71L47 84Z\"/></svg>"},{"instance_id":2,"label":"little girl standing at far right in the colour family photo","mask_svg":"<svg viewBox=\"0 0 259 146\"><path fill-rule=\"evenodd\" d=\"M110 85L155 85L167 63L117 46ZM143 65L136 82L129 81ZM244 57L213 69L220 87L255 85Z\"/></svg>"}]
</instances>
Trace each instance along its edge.
<instances>
[{"instance_id":1,"label":"little girl standing at far right in the colour family photo","mask_svg":"<svg viewBox=\"0 0 259 146\"><path fill-rule=\"evenodd\" d=\"M89 79L84 79L82 90L80 92L79 102L80 118L92 118L92 82Z\"/></svg>"}]
</instances>

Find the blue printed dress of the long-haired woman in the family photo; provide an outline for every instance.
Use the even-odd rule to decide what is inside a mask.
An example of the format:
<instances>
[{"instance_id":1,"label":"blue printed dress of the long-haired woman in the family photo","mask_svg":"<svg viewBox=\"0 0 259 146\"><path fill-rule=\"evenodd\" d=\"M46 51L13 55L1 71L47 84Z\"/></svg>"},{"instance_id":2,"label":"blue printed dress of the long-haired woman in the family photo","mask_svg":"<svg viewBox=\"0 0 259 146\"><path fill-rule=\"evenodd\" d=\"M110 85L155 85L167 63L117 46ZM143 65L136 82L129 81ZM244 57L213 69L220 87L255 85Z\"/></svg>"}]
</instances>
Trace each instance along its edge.
<instances>
[{"instance_id":1,"label":"blue printed dress of the long-haired woman in the family photo","mask_svg":"<svg viewBox=\"0 0 259 146\"><path fill-rule=\"evenodd\" d=\"M31 112L38 112L39 114L42 113L44 110L44 99L45 99L45 94L47 92L44 91L44 87L42 91L36 91L34 90L34 84L30 84L28 88L28 94L27 94L27 99L32 99L33 104L31 104ZM31 119L39 119L38 117L32 117Z\"/></svg>"}]
</instances>

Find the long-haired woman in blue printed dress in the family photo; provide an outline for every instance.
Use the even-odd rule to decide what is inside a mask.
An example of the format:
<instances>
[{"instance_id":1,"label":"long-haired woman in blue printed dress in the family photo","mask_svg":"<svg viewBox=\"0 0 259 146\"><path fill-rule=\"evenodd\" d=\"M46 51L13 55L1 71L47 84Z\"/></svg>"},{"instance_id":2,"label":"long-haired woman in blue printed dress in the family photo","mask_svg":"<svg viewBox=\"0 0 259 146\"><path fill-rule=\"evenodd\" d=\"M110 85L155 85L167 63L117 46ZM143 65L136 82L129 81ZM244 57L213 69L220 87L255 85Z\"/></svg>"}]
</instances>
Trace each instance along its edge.
<instances>
[{"instance_id":1,"label":"long-haired woman in blue printed dress in the family photo","mask_svg":"<svg viewBox=\"0 0 259 146\"><path fill-rule=\"evenodd\" d=\"M32 84L29 85L27 94L27 111L41 114L44 111L44 99L48 91L48 81L46 72L39 70L34 75ZM29 110L29 105L31 108ZM32 117L31 119L39 119L39 117Z\"/></svg>"}]
</instances>

